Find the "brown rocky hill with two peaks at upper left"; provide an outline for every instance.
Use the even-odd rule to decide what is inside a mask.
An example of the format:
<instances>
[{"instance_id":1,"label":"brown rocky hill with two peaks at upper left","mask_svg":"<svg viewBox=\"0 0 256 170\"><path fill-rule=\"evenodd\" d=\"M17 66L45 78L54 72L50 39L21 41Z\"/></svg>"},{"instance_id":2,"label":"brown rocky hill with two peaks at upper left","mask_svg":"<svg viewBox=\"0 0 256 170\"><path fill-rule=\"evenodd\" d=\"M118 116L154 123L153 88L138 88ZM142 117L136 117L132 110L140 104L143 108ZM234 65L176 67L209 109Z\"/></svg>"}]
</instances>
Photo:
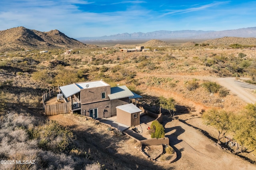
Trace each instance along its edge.
<instances>
[{"instance_id":1,"label":"brown rocky hill with two peaks at upper left","mask_svg":"<svg viewBox=\"0 0 256 170\"><path fill-rule=\"evenodd\" d=\"M86 45L76 39L66 36L58 30L41 32L25 27L15 27L0 31L0 50L40 49L53 48L95 48L95 45Z\"/></svg>"}]
</instances>

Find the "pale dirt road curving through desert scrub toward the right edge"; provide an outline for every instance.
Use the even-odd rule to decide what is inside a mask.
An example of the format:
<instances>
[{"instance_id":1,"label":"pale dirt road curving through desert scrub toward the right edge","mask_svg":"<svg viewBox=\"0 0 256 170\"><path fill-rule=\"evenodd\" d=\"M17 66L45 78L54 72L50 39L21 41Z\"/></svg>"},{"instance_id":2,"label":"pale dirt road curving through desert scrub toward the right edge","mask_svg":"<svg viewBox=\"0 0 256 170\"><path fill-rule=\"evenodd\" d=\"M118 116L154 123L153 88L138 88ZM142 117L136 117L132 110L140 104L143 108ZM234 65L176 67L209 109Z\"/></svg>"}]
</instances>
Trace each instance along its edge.
<instances>
[{"instance_id":1,"label":"pale dirt road curving through desert scrub toward the right edge","mask_svg":"<svg viewBox=\"0 0 256 170\"><path fill-rule=\"evenodd\" d=\"M236 94L240 99L244 100L246 103L256 103L256 98L250 94L245 88L256 89L256 86L252 84L247 84L236 80L235 77L218 78L213 76L179 76L179 75L165 75L165 74L137 74L137 76L156 76L156 77L181 77L181 78L198 78L200 80L210 80L219 83L224 86L233 94Z\"/></svg>"}]
</instances>

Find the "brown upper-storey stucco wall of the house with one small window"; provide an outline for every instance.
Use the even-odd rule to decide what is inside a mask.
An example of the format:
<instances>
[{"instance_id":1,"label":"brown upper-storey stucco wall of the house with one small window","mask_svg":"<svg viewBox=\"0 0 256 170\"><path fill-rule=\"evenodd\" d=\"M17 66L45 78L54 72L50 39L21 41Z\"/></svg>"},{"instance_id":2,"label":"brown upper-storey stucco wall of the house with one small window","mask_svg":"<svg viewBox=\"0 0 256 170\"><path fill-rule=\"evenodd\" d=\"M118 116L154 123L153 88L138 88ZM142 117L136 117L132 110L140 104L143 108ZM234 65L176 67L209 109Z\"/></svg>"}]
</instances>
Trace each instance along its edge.
<instances>
[{"instance_id":1,"label":"brown upper-storey stucco wall of the house with one small window","mask_svg":"<svg viewBox=\"0 0 256 170\"><path fill-rule=\"evenodd\" d=\"M105 92L105 99L102 99L102 92ZM110 86L94 87L81 89L81 104L90 102L97 102L102 100L109 100L108 94L110 94Z\"/></svg>"}]
</instances>

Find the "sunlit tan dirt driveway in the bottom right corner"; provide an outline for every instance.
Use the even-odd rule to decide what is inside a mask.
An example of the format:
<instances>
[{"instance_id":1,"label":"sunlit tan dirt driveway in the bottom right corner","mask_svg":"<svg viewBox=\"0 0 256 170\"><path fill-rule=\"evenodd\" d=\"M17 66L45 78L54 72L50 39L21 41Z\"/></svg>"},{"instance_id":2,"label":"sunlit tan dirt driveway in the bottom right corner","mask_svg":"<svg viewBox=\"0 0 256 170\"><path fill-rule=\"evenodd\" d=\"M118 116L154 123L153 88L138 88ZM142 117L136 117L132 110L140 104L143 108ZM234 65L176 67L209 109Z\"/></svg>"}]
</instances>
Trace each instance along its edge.
<instances>
[{"instance_id":1,"label":"sunlit tan dirt driveway in the bottom right corner","mask_svg":"<svg viewBox=\"0 0 256 170\"><path fill-rule=\"evenodd\" d=\"M178 155L178 160L172 164L174 169L256 169L256 165L223 151L193 127L178 120L165 123L166 137Z\"/></svg>"}]
</instances>

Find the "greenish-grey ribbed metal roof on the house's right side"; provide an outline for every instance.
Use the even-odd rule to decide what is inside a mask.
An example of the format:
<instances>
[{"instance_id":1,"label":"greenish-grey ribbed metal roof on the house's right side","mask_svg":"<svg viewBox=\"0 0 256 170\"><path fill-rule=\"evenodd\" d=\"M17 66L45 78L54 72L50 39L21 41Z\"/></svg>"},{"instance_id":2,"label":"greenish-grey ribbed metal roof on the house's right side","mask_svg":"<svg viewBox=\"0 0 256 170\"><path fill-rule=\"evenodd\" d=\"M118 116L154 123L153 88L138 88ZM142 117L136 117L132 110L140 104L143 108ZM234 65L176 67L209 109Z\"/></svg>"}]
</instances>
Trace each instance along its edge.
<instances>
[{"instance_id":1,"label":"greenish-grey ribbed metal roof on the house's right side","mask_svg":"<svg viewBox=\"0 0 256 170\"><path fill-rule=\"evenodd\" d=\"M110 100L128 98L134 94L126 86L117 86L111 88L111 94L108 94Z\"/></svg>"}]
</instances>

